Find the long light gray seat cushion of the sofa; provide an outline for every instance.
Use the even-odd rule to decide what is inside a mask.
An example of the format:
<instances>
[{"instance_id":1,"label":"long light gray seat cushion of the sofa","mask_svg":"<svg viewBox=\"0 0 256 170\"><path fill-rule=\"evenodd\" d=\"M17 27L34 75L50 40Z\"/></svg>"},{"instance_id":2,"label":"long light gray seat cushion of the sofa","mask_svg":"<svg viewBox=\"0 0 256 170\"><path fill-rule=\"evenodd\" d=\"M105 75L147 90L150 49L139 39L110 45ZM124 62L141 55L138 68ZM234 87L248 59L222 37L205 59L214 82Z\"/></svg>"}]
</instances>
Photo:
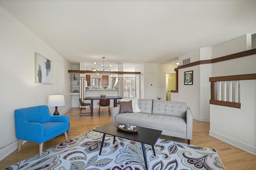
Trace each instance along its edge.
<instances>
[{"instance_id":1,"label":"long light gray seat cushion of the sofa","mask_svg":"<svg viewBox=\"0 0 256 170\"><path fill-rule=\"evenodd\" d=\"M115 117L116 122L128 123L148 128L166 129L186 133L186 120L180 117L153 115L147 113L122 113ZM140 131L140 130L139 130Z\"/></svg>"}]
</instances>

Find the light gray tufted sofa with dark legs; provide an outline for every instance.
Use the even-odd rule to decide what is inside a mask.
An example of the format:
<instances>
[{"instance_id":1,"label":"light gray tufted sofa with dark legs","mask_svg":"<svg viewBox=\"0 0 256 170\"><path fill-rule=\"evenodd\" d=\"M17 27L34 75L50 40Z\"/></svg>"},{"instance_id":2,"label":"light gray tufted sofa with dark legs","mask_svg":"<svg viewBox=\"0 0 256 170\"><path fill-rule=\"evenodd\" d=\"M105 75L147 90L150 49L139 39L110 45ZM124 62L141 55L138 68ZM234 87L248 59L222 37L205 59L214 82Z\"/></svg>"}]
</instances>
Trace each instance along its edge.
<instances>
[{"instance_id":1,"label":"light gray tufted sofa with dark legs","mask_svg":"<svg viewBox=\"0 0 256 170\"><path fill-rule=\"evenodd\" d=\"M139 99L140 112L119 113L112 109L113 122L148 127L162 131L162 135L192 140L193 116L185 102Z\"/></svg>"}]
</instances>

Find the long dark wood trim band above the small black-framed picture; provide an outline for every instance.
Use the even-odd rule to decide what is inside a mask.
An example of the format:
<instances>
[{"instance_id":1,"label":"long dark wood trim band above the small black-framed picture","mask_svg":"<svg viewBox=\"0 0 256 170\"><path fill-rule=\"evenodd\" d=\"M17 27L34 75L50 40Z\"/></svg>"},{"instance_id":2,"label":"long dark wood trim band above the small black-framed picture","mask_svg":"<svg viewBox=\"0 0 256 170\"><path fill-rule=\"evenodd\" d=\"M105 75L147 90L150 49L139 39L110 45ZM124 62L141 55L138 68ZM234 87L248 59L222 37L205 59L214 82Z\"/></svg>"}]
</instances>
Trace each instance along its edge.
<instances>
[{"instance_id":1,"label":"long dark wood trim band above the small black-framed picture","mask_svg":"<svg viewBox=\"0 0 256 170\"><path fill-rule=\"evenodd\" d=\"M187 67L196 66L196 65L200 65L200 64L218 63L218 62L221 62L221 61L237 59L237 58L240 58L240 57L246 57L246 56L254 55L254 54L256 54L256 49L251 49L251 50L247 50L247 51L242 51L240 53L235 53L235 54L226 55L226 56L223 56L223 57L218 57L216 59L201 60L201 61L196 61L196 62L189 63L189 64L184 64L184 65L178 66L177 69L187 68Z\"/></svg>"}]
</instances>

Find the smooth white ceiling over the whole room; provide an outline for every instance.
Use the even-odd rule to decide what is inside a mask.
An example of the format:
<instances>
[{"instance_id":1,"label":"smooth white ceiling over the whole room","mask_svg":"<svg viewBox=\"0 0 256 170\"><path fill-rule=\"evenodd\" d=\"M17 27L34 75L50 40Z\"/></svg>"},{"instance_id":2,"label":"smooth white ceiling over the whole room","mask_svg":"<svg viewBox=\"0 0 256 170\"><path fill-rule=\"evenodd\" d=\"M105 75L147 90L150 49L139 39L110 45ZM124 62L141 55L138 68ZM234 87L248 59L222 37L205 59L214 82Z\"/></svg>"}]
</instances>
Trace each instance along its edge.
<instances>
[{"instance_id":1,"label":"smooth white ceiling over the whole room","mask_svg":"<svg viewBox=\"0 0 256 170\"><path fill-rule=\"evenodd\" d=\"M72 64L174 63L256 32L256 0L0 0ZM98 68L99 70L102 68Z\"/></svg>"}]
</instances>

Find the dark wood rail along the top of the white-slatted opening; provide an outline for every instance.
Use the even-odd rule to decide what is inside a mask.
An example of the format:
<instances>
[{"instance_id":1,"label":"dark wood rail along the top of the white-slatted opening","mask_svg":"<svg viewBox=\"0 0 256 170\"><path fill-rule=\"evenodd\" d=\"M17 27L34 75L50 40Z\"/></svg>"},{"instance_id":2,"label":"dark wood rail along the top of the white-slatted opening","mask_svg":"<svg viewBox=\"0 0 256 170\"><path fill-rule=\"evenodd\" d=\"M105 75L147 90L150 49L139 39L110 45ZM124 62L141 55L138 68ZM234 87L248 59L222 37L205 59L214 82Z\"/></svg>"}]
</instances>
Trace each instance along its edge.
<instances>
[{"instance_id":1,"label":"dark wood rail along the top of the white-slatted opening","mask_svg":"<svg viewBox=\"0 0 256 170\"><path fill-rule=\"evenodd\" d=\"M234 81L234 80L256 80L255 74L240 74L233 76L219 76L219 77L210 77L209 82L219 82L219 81Z\"/></svg>"}]
</instances>

